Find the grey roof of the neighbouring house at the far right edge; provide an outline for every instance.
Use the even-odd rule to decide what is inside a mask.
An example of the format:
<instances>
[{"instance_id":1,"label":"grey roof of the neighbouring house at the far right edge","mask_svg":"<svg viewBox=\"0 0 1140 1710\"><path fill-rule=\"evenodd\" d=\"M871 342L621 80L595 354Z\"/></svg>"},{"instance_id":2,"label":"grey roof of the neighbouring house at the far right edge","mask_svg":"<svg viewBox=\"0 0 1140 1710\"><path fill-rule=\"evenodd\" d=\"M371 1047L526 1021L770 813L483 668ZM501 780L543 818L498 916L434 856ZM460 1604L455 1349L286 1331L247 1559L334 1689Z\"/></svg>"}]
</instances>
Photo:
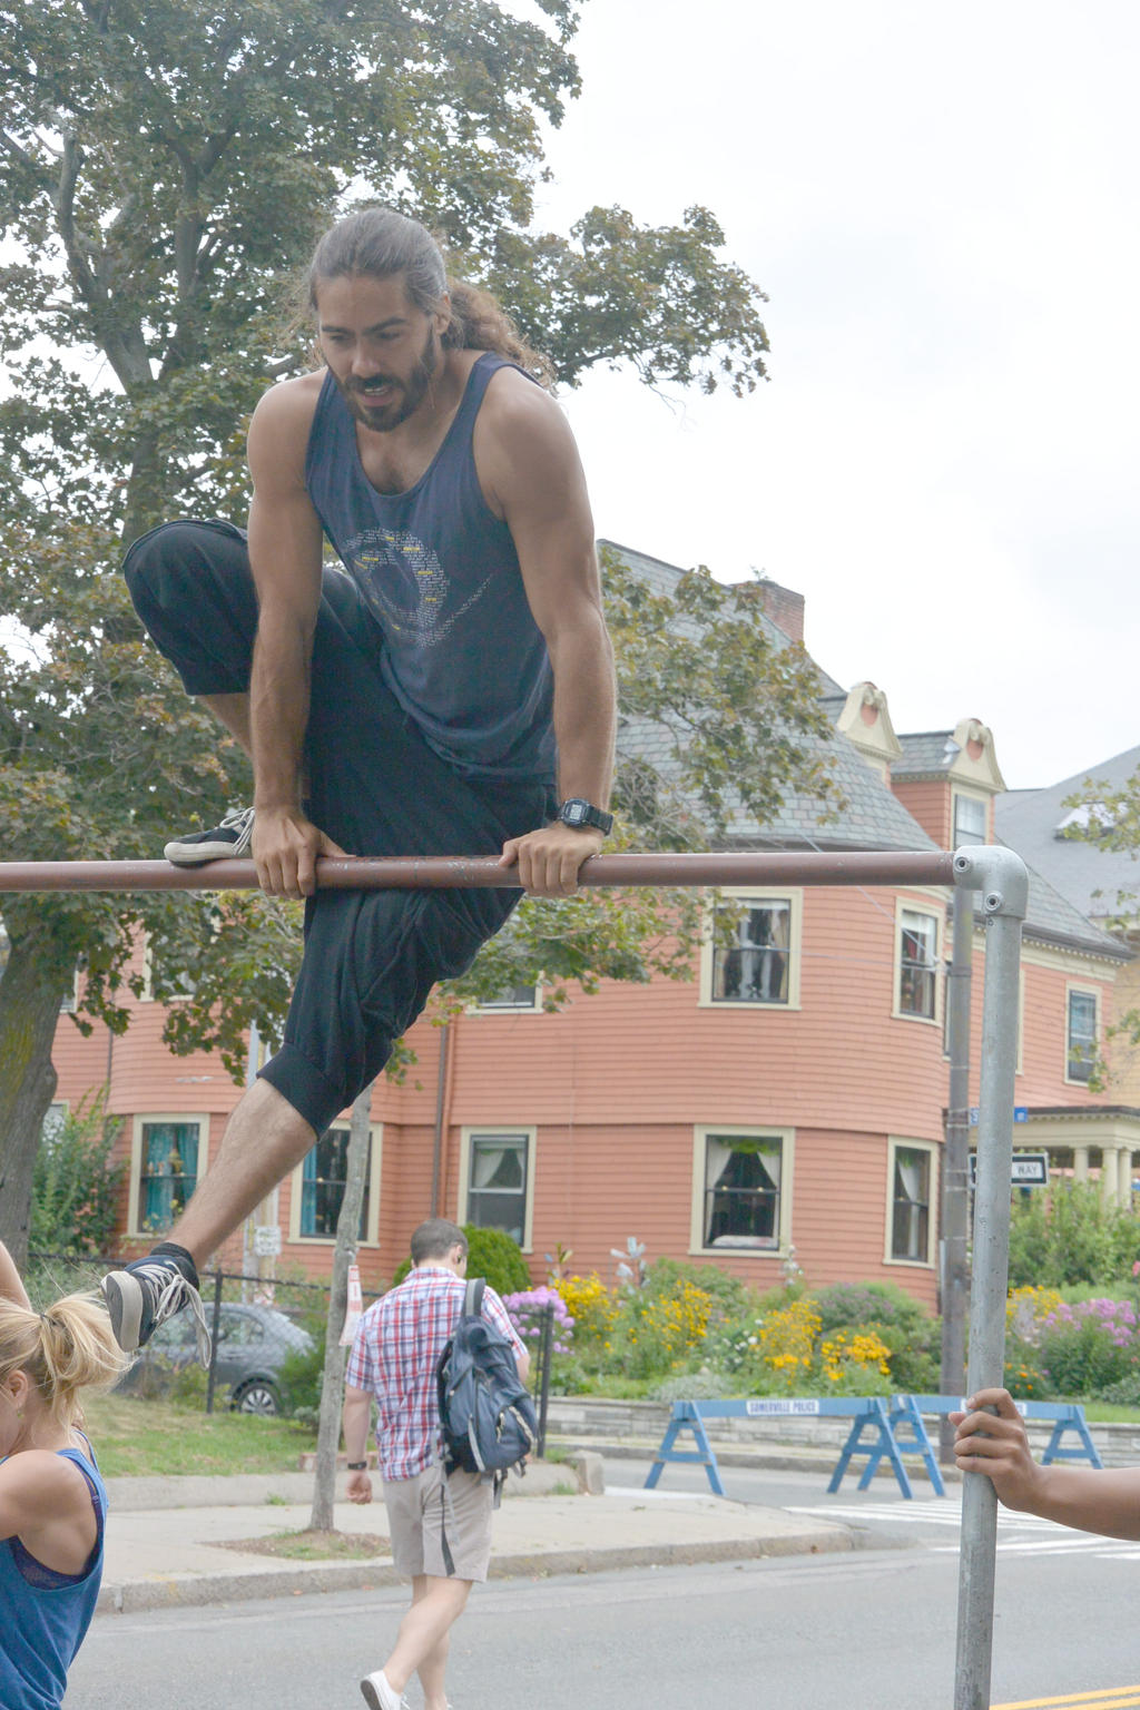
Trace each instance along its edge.
<instances>
[{"instance_id":1,"label":"grey roof of the neighbouring house at the far right edge","mask_svg":"<svg viewBox=\"0 0 1140 1710\"><path fill-rule=\"evenodd\" d=\"M996 800L996 829L1003 843L1043 872L1053 887L1084 915L1104 920L1114 913L1140 913L1128 893L1140 893L1140 860L1126 850L1058 834L1070 795L1084 795L1087 780L1106 793L1123 788L1140 770L1140 747L1089 766L1044 790L1010 790ZM1125 896L1121 896L1125 893Z\"/></svg>"}]
</instances>

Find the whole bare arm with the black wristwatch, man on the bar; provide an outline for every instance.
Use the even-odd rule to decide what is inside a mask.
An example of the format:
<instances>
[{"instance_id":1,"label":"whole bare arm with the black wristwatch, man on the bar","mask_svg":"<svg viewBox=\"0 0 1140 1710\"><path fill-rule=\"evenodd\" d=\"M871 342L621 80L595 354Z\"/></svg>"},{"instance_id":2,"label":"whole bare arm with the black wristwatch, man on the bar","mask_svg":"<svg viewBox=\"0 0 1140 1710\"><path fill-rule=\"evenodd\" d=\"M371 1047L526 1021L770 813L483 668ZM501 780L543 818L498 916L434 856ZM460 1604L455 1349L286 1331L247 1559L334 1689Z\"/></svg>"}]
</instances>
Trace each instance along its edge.
<instances>
[{"instance_id":1,"label":"whole bare arm with the black wristwatch, man on the bar","mask_svg":"<svg viewBox=\"0 0 1140 1710\"><path fill-rule=\"evenodd\" d=\"M550 653L559 797L607 807L617 723L614 653L602 612L593 516L578 446L544 392L502 371L480 412L475 457L489 503L511 530L526 598ZM602 833L555 823L511 838L502 864L518 862L538 896L571 896Z\"/></svg>"}]
</instances>

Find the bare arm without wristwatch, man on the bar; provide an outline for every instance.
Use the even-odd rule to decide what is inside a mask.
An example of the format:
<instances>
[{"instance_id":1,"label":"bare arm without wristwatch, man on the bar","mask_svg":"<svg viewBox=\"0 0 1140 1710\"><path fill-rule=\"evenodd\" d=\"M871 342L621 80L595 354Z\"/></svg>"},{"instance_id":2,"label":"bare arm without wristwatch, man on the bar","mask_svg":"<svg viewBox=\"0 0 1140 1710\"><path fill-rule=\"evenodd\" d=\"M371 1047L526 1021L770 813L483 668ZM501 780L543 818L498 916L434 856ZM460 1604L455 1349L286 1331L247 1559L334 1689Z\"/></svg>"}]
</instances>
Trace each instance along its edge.
<instances>
[{"instance_id":1,"label":"bare arm without wristwatch, man on the bar","mask_svg":"<svg viewBox=\"0 0 1140 1710\"><path fill-rule=\"evenodd\" d=\"M313 633L321 597L321 525L304 487L313 417L304 381L273 386L250 424L250 566L258 633L250 677L253 860L273 896L309 896L316 857L344 855L301 807Z\"/></svg>"}]
</instances>

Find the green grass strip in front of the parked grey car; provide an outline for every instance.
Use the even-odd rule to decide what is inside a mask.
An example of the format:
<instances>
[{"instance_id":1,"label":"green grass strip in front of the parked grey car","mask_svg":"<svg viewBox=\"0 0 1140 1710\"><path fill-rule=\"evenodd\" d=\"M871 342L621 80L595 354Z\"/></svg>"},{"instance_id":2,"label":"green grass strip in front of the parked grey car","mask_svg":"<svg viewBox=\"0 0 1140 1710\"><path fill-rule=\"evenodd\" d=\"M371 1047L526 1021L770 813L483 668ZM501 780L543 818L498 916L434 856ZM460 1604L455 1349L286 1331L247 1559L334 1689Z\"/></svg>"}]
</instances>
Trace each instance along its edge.
<instances>
[{"instance_id":1,"label":"green grass strip in front of the parked grey car","mask_svg":"<svg viewBox=\"0 0 1140 1710\"><path fill-rule=\"evenodd\" d=\"M203 1412L171 1400L96 1395L85 1406L87 1435L104 1477L179 1472L296 1472L314 1433L292 1419L251 1412Z\"/></svg>"}]
</instances>

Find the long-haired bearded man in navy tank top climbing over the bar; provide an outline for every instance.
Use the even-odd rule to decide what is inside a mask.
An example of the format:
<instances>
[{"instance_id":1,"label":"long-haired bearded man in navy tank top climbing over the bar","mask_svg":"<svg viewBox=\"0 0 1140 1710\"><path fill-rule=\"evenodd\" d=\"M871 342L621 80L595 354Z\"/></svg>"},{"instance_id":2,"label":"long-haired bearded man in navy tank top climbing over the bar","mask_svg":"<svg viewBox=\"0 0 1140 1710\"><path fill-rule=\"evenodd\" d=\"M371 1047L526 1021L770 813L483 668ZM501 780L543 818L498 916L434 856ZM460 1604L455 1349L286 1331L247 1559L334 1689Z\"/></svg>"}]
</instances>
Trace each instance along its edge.
<instances>
[{"instance_id":1,"label":"long-haired bearded man in navy tank top climbing over the bar","mask_svg":"<svg viewBox=\"0 0 1140 1710\"><path fill-rule=\"evenodd\" d=\"M126 1351L190 1306L197 1267L383 1069L436 980L516 891L318 891L320 855L497 855L571 896L610 829L614 663L578 451L497 303L450 282L422 226L373 207L309 268L323 371L250 426L248 537L173 522L125 561L188 694L253 758L253 809L167 843L251 850L306 899L280 1052L154 1252L103 1281ZM323 568L323 535L338 568ZM557 792L555 792L557 766Z\"/></svg>"}]
</instances>

